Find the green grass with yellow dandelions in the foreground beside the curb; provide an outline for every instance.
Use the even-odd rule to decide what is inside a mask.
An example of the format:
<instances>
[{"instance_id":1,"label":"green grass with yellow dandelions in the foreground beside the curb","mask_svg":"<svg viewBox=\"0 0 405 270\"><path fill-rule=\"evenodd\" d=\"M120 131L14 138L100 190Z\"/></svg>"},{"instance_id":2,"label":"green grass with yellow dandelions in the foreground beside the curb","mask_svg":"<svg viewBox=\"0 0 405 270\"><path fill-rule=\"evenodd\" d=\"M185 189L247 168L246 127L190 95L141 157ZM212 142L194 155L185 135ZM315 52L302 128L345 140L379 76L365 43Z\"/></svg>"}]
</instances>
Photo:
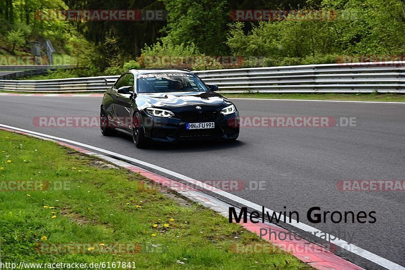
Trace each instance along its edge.
<instances>
[{"instance_id":1,"label":"green grass with yellow dandelions in the foreground beside the curb","mask_svg":"<svg viewBox=\"0 0 405 270\"><path fill-rule=\"evenodd\" d=\"M12 180L46 181L45 187L50 188L4 191L2 185ZM66 188L58 189L60 183ZM260 243L260 239L168 191L139 188L145 183L147 179L140 174L56 143L0 130L2 261L134 261L138 269L311 268L280 250L232 252L235 243ZM38 245L50 243L96 243L96 247L99 243L137 243L142 251L36 252Z\"/></svg>"}]
</instances>

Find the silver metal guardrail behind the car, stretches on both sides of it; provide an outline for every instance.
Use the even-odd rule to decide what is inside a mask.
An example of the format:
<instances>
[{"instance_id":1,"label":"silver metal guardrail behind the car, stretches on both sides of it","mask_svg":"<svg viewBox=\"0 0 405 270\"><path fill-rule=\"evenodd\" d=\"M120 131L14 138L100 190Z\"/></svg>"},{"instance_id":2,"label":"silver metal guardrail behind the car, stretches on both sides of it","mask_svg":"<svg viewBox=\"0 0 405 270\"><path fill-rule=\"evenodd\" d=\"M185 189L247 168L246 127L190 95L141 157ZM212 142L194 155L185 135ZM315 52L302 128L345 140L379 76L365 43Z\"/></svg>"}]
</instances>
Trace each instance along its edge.
<instances>
[{"instance_id":1,"label":"silver metal guardrail behind the car, stretches on both sides of it","mask_svg":"<svg viewBox=\"0 0 405 270\"><path fill-rule=\"evenodd\" d=\"M218 85L221 93L405 93L405 66L402 62L203 70L195 73L207 84ZM117 78L0 80L0 90L104 92Z\"/></svg>"}]
</instances>

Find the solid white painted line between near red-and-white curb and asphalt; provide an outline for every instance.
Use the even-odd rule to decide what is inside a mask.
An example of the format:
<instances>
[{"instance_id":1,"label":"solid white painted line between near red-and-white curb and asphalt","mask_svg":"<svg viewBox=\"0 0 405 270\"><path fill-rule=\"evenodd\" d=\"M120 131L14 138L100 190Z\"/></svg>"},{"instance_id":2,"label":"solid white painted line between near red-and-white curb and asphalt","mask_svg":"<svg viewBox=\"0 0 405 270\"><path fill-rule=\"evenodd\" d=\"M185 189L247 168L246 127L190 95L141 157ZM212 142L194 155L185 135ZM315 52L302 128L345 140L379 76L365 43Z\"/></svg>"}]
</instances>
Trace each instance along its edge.
<instances>
[{"instance_id":1,"label":"solid white painted line between near red-and-white curb and asphalt","mask_svg":"<svg viewBox=\"0 0 405 270\"><path fill-rule=\"evenodd\" d=\"M157 171L164 172L166 174L175 176L175 177L180 178L180 179L182 179L184 181L191 182L193 185L199 186L199 187L201 187L203 189L206 189L206 190L211 190L213 193L216 193L216 194L218 194L220 196L226 197L226 198L228 198L228 199L230 199L230 200L232 200L234 202L237 202L237 203L239 203L241 205L245 205L245 206L247 206L249 208L252 208L252 209L255 209L255 210L259 211L259 212L262 211L262 207L260 205L256 204L256 203L253 203L251 201L240 198L238 196L235 196L233 194L230 194L230 193L222 191L222 190L210 189L210 185L207 185L205 183L199 182L199 181L197 181L197 180L195 180L193 178L190 178L188 176L185 176L183 174L180 174L180 173L171 171L169 169L165 169L165 168L153 165L153 164L145 162L145 161L141 161L141 160L138 160L138 159L135 159L135 158L124 156L124 155L121 155L121 154L118 154L118 153L115 153L115 152L111 152L111 151L108 151L108 150L104 150L104 149L101 149L101 148L98 148L98 147L95 147L95 146L79 143L79 142L76 142L76 141L71 141L71 140L68 140L68 139L63 139L63 138L60 138L60 137L51 136L51 135L44 134L44 133L39 133L39 132L35 132L35 131L31 131L31 130L27 130L27 129L23 129L23 128L19 128L19 127L9 126L9 125L5 125L5 124L0 124L0 126L5 127L5 128L9 128L9 129L14 129L14 130L17 130L17 131L26 132L26 133L29 133L29 134L34 134L34 135L41 136L41 137L44 137L44 138L53 139L53 140L60 141L60 142L65 142L65 143L69 143L69 144L72 144L72 145L77 145L77 146L81 146L81 147L84 147L84 148L92 149L92 150L95 150L95 151L98 151L98 152L101 152L101 153L105 153L105 154L108 154L108 155L118 157L118 158L123 159L123 160L129 160L129 161L141 164L143 166L155 169ZM264 208L264 210L269 212L270 215L274 212L273 210L268 209L268 208ZM284 215L280 215L280 219L283 220ZM291 219L291 220L292 220L292 222L288 223L288 224L290 224L291 226L294 226L294 227L296 227L296 228L298 228L300 230L303 230L305 232L311 233L311 232L319 232L320 231L320 230L317 230L316 228L311 227L311 226L309 226L309 225L307 225L305 223L297 222L297 220L295 220L295 219ZM378 264L378 265L380 265L382 267L385 267L387 269L405 270L405 267L403 267L403 266L401 266L401 265L399 265L399 264L397 264L395 262L392 262L392 261L390 261L388 259L380 257L380 256L378 256L378 255L376 255L376 254L374 254L374 253L372 253L370 251L367 251L365 249L357 247L357 246L355 246L353 244L350 244L350 243L348 243L348 242L346 242L344 240L341 240L341 239L336 240L337 237L335 237L333 235L330 235L330 236L335 238L335 240L330 241L331 243L333 243L333 244L335 244L335 245L337 245L337 246L339 246L339 247L341 247L343 249L346 249L346 250L348 250L349 252L351 252L353 254L356 254L356 255L358 255L358 256L360 256L362 258L365 258L365 259L367 259L369 261L372 261L372 262L374 262L374 263L376 263L376 264ZM316 236L316 237L319 237L319 236ZM357 252L355 252L354 250L356 250Z\"/></svg>"}]
</instances>

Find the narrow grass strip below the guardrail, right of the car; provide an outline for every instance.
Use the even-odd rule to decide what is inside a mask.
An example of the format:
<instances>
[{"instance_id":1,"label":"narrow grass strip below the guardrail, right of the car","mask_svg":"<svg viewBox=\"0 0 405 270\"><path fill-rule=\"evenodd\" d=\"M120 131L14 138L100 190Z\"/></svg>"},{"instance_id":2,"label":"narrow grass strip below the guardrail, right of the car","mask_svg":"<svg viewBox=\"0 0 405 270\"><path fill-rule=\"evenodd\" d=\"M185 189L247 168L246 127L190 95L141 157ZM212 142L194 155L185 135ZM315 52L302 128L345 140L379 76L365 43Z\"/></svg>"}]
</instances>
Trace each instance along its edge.
<instances>
[{"instance_id":1,"label":"narrow grass strip below the guardrail, right of the car","mask_svg":"<svg viewBox=\"0 0 405 270\"><path fill-rule=\"evenodd\" d=\"M405 102L404 94L286 94L286 93L242 93L223 94L227 98L250 98L250 99L288 99L288 100L344 100L344 101L385 101Z\"/></svg>"}]
</instances>

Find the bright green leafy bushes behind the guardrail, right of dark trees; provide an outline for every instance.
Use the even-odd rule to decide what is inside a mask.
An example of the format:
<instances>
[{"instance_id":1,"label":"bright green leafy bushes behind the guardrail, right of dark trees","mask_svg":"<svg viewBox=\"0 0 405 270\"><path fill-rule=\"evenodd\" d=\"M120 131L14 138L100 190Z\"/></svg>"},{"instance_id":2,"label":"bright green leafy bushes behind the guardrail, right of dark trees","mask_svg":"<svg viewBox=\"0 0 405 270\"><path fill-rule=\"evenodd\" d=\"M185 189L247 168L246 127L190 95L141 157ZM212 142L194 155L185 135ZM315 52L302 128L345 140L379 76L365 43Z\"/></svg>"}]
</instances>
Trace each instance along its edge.
<instances>
[{"instance_id":1,"label":"bright green leafy bushes behind the guardrail, right of dark trees","mask_svg":"<svg viewBox=\"0 0 405 270\"><path fill-rule=\"evenodd\" d=\"M227 45L233 54L262 60L249 65L335 63L351 56L360 60L392 56L389 60L404 55L405 2L322 1L318 11L330 10L336 15L326 20L291 15L282 21L260 22L248 33L244 23L234 23Z\"/></svg>"}]
</instances>

